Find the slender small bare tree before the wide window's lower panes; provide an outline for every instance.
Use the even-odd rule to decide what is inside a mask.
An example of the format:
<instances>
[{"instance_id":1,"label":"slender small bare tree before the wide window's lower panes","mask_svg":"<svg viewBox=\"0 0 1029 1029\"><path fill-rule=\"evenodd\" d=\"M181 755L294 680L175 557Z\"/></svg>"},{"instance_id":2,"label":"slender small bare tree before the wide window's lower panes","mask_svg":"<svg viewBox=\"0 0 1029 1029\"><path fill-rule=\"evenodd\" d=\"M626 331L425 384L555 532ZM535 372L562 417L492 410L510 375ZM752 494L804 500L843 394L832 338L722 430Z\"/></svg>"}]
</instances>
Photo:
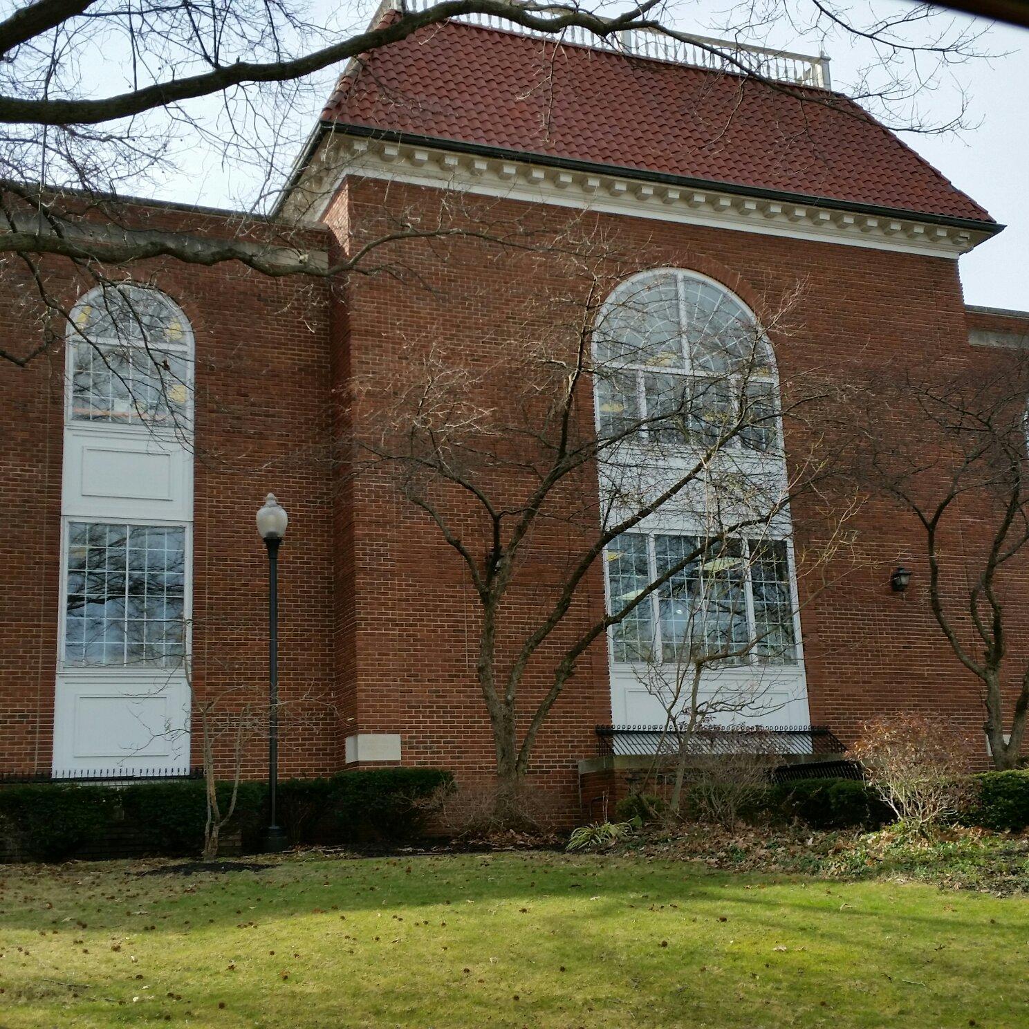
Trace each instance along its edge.
<instances>
[{"instance_id":1,"label":"slender small bare tree before the wide window's lower panes","mask_svg":"<svg viewBox=\"0 0 1029 1029\"><path fill-rule=\"evenodd\" d=\"M646 647L636 675L664 715L646 778L671 758L673 815L681 810L691 766L703 768L709 758L732 758L736 752L742 771L775 753L774 737L759 726L793 699L801 658L797 616L824 588L815 579L847 547L853 510L840 504L835 531L809 548L805 567L796 568L797 577L807 580L803 604L791 582L788 520L751 526L743 538L726 536L717 508L714 524L698 537L700 553L659 592L661 638ZM707 545L712 538L719 541ZM732 738L722 732L725 726L737 730ZM757 731L742 732L747 726Z\"/></svg>"}]
</instances>

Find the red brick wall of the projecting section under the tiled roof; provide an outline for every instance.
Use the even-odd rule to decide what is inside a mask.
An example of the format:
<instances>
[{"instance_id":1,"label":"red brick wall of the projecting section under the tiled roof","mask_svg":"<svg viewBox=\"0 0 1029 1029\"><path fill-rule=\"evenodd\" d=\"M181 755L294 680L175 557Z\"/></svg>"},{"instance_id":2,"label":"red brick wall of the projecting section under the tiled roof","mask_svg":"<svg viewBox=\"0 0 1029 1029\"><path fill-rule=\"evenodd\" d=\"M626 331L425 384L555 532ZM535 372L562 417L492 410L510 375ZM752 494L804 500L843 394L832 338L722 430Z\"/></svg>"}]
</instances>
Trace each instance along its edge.
<instances>
[{"instance_id":1,"label":"red brick wall of the projecting section under the tiled roof","mask_svg":"<svg viewBox=\"0 0 1029 1029\"><path fill-rule=\"evenodd\" d=\"M346 204L349 224L368 233L387 210L394 216L435 212L439 196L396 183L387 194L375 180L352 182L346 192L338 199L338 216ZM511 202L489 202L488 208L498 221L528 213ZM556 225L575 216L556 210L546 217ZM787 391L814 372L856 384L890 368L957 370L982 360L967 343L953 260L615 216L587 221L605 239L616 239L637 267L702 272L766 320L800 288L788 330L773 333ZM529 257L510 251L488 256L470 242L411 245L392 251L390 259L405 278L355 281L348 290L350 360L358 376L387 374L400 339L440 332L463 340L473 354L476 341L511 317L527 294L545 289ZM796 443L804 441L788 440L792 450L803 449ZM405 761L481 775L492 755L474 680L477 620L467 579L426 520L405 509L386 484L363 483L353 503L357 608L367 615L358 615L352 672L360 728L400 732ZM813 535L811 503L799 501L793 514L803 546ZM921 530L882 500L867 502L850 529L857 536L853 552L828 569L839 581L815 599L813 586L801 587L812 721L851 741L877 714L919 710L980 732L977 681L954 658L927 605ZM483 542L475 538L474 545ZM914 576L908 593L897 595L889 578L901 562ZM599 569L591 589L595 609ZM397 602L410 603L402 624L389 617L382 624L374 612ZM595 647L536 750L534 767L568 796L576 758L594 752L590 724L610 716L605 665L604 648ZM543 669L537 671L530 696L545 681Z\"/></svg>"}]
</instances>

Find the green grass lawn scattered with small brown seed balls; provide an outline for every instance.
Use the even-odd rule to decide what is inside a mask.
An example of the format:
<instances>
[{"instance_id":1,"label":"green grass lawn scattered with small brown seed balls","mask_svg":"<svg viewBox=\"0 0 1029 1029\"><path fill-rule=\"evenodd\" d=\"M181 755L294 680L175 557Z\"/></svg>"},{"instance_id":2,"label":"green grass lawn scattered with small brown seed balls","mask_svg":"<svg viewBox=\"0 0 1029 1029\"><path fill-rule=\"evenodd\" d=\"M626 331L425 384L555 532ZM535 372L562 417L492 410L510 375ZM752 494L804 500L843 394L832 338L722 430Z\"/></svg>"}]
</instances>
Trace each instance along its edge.
<instances>
[{"instance_id":1,"label":"green grass lawn scattered with small brown seed balls","mask_svg":"<svg viewBox=\"0 0 1029 1029\"><path fill-rule=\"evenodd\" d=\"M0 868L0 1027L1029 1025L1029 901L557 854Z\"/></svg>"}]
</instances>

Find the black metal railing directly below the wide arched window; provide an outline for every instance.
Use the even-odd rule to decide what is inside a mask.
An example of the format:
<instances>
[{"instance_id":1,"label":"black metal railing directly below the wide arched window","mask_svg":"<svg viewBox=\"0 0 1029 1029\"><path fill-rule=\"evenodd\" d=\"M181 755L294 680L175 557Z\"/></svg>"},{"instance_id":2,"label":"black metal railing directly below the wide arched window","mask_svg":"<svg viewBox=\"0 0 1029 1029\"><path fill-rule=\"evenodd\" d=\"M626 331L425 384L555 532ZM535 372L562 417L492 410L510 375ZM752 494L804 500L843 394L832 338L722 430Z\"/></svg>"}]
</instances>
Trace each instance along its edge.
<instances>
[{"instance_id":1,"label":"black metal railing directly below the wide arched window","mask_svg":"<svg viewBox=\"0 0 1029 1029\"><path fill-rule=\"evenodd\" d=\"M597 752L652 757L654 755L769 754L823 757L846 747L824 725L728 725L678 734L660 725L597 725Z\"/></svg>"}]
</instances>

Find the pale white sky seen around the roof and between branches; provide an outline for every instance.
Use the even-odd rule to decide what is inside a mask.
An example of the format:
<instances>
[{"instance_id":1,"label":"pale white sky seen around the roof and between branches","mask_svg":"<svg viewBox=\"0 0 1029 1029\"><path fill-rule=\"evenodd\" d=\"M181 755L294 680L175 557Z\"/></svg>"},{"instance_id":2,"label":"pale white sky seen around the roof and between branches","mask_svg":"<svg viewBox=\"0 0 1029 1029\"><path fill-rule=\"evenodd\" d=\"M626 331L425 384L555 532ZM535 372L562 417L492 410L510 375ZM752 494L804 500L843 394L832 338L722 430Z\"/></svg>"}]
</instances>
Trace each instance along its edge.
<instances>
[{"instance_id":1,"label":"pale white sky seen around the roof and between branches","mask_svg":"<svg viewBox=\"0 0 1029 1029\"><path fill-rule=\"evenodd\" d=\"M312 0L312 14L336 27L360 28L367 22L376 0ZM601 0L604 2L604 0ZM733 0L670 0L671 24L686 32L724 35L724 10ZM757 0L759 2L759 0ZM810 15L810 0L787 0L802 14ZM861 8L871 0L853 0ZM607 0L617 4L617 0ZM605 3L606 8L606 3ZM610 8L606 8L609 10ZM911 9L908 0L876 0L877 12ZM605 10L606 12L606 10ZM719 13L722 12L722 13ZM921 114L945 121L960 107L960 91L968 98L966 121L970 128L943 136L903 133L901 138L939 169L955 185L969 193L1007 227L961 258L965 300L988 307L1029 310L1029 211L1024 194L1029 187L1029 30L993 26L963 15L946 15L957 25L988 29L979 46L1003 55L966 62L948 69L934 87L919 94ZM668 20L668 19L666 19ZM816 54L819 38L803 27L780 19L760 38L744 41L783 49ZM856 70L875 59L866 45L852 36L829 38L824 48L831 60L832 82L845 88ZM321 100L327 96L336 71L318 76L317 83L297 105L297 125L289 135L306 135L314 125ZM280 122L280 131L283 127ZM298 147L297 147L298 148ZM290 147L292 149L292 145ZM203 147L191 147L180 165L182 173L151 183L150 192L164 199L214 206L236 207L253 193L253 171Z\"/></svg>"}]
</instances>

